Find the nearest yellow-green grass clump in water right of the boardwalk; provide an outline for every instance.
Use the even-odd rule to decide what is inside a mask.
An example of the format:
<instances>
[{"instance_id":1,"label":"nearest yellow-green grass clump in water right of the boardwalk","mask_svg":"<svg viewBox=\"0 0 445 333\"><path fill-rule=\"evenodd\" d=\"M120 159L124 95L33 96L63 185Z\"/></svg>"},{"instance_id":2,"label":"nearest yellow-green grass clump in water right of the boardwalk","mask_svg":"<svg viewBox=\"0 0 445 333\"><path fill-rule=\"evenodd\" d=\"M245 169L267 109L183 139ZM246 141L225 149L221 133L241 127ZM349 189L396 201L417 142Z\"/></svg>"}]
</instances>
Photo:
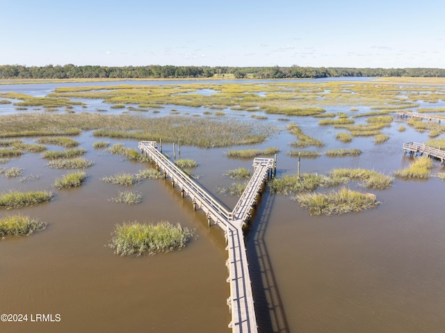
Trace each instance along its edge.
<instances>
[{"instance_id":1,"label":"nearest yellow-green grass clump in water right of the boardwalk","mask_svg":"<svg viewBox=\"0 0 445 333\"><path fill-rule=\"evenodd\" d=\"M363 211L378 206L375 195L359 193L346 188L331 193L302 193L296 197L300 206L309 209L311 215L343 214Z\"/></svg>"}]
</instances>

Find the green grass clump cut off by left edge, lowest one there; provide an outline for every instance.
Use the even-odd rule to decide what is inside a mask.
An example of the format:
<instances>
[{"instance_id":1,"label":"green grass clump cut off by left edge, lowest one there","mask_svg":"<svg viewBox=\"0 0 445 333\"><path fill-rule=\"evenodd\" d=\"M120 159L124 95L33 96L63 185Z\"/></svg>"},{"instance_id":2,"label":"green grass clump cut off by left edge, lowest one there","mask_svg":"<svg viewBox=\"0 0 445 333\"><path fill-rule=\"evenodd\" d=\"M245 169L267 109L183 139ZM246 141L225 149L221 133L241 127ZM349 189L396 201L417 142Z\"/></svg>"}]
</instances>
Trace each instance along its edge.
<instances>
[{"instance_id":1,"label":"green grass clump cut off by left edge, lowest one there","mask_svg":"<svg viewBox=\"0 0 445 333\"><path fill-rule=\"evenodd\" d=\"M24 215L0 218L0 236L23 236L41 232L47 227L46 222Z\"/></svg>"}]
</instances>

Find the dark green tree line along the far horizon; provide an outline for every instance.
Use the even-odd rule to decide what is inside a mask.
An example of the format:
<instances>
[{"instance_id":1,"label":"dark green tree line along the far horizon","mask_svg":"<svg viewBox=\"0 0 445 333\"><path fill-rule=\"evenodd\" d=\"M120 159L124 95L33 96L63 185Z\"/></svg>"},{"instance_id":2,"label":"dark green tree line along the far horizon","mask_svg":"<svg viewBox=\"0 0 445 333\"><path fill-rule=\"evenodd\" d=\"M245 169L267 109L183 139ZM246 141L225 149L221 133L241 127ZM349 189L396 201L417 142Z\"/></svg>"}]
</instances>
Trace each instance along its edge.
<instances>
[{"instance_id":1,"label":"dark green tree line along the far horizon","mask_svg":"<svg viewBox=\"0 0 445 333\"><path fill-rule=\"evenodd\" d=\"M300 79L343 76L445 77L442 68L227 67L227 66L76 66L0 65L0 79L174 79L234 76L236 79Z\"/></svg>"}]
</instances>

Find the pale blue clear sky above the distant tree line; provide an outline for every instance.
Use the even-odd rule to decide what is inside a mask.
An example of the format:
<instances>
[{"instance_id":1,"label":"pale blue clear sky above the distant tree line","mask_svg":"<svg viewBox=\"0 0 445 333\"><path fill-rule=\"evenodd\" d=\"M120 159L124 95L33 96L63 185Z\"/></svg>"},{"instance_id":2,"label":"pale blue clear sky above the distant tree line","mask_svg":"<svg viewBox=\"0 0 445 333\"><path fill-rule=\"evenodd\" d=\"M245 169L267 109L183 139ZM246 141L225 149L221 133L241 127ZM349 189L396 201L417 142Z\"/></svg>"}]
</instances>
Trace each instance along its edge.
<instances>
[{"instance_id":1,"label":"pale blue clear sky above the distant tree line","mask_svg":"<svg viewBox=\"0 0 445 333\"><path fill-rule=\"evenodd\" d=\"M441 0L0 0L0 65L445 68Z\"/></svg>"}]
</instances>

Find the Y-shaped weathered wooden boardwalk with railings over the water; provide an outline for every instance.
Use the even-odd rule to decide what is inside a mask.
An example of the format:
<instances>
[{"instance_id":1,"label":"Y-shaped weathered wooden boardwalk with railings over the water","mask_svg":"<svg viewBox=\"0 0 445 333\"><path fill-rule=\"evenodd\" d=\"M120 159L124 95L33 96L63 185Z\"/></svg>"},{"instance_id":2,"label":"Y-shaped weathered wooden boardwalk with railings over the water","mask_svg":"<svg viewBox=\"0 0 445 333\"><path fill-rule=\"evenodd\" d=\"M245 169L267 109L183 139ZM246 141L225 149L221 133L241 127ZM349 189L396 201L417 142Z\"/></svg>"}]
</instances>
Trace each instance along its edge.
<instances>
[{"instance_id":1,"label":"Y-shaped weathered wooden boardwalk with railings over the water","mask_svg":"<svg viewBox=\"0 0 445 333\"><path fill-rule=\"evenodd\" d=\"M207 215L209 225L213 221L225 231L228 252L226 261L229 270L227 282L230 284L230 297L227 305L232 314L229 327L232 332L258 332L255 316L252 286L250 283L248 259L245 252L243 225L250 219L250 211L257 204L268 174L275 171L275 159L254 159L254 173L233 211L229 211L213 195L191 179L185 172L158 151L155 141L141 141L139 149L156 163L164 177L170 178L172 186L181 189L182 197L191 198L193 209L200 208Z\"/></svg>"}]
</instances>

